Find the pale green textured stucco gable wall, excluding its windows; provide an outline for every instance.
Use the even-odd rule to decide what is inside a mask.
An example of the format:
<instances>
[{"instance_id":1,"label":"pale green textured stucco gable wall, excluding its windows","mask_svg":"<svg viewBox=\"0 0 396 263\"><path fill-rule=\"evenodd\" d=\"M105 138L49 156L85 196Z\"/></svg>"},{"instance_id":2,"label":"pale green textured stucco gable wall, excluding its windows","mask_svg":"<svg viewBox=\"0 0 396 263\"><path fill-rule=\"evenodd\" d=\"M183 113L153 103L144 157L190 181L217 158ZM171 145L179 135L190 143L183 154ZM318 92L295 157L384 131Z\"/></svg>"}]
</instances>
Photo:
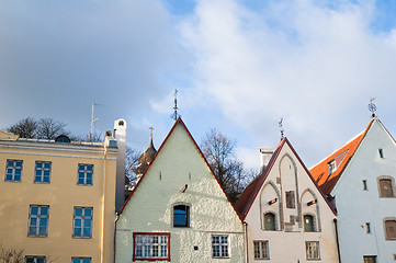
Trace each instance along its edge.
<instances>
[{"instance_id":1,"label":"pale green textured stucco gable wall, excluding its windows","mask_svg":"<svg viewBox=\"0 0 396 263\"><path fill-rule=\"evenodd\" d=\"M191 205L190 228L172 227L176 203ZM133 260L133 232L170 232L172 262L245 261L242 224L181 124L142 179L116 228L120 263ZM212 235L228 235L229 259L212 258Z\"/></svg>"}]
</instances>

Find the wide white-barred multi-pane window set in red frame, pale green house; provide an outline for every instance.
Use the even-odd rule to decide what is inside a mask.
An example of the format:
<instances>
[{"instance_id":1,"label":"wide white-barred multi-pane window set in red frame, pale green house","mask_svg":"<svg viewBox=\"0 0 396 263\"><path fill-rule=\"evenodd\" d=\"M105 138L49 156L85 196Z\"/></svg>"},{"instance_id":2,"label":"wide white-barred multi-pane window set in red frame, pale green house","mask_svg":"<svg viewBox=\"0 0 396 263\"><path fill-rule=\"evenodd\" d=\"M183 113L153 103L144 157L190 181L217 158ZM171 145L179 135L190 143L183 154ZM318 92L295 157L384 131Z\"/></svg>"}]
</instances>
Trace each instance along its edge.
<instances>
[{"instance_id":1,"label":"wide white-barred multi-pane window set in red frame, pale green house","mask_svg":"<svg viewBox=\"0 0 396 263\"><path fill-rule=\"evenodd\" d=\"M134 261L170 261L170 233L134 233Z\"/></svg>"}]
</instances>

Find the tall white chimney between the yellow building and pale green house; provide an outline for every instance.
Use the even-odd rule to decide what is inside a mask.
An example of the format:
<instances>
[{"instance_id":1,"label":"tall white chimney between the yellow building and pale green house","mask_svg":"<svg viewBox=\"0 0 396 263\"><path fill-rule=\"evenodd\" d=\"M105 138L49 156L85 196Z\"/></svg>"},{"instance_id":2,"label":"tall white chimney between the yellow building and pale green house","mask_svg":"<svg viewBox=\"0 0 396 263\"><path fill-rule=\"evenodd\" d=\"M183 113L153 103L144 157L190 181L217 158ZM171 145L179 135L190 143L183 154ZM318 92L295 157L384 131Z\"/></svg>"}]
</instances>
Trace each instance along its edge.
<instances>
[{"instance_id":1,"label":"tall white chimney between the yellow building and pale green house","mask_svg":"<svg viewBox=\"0 0 396 263\"><path fill-rule=\"evenodd\" d=\"M114 122L114 138L117 140L117 167L115 180L115 210L124 205L125 192L125 158L126 158L126 121L120 118Z\"/></svg>"}]
</instances>

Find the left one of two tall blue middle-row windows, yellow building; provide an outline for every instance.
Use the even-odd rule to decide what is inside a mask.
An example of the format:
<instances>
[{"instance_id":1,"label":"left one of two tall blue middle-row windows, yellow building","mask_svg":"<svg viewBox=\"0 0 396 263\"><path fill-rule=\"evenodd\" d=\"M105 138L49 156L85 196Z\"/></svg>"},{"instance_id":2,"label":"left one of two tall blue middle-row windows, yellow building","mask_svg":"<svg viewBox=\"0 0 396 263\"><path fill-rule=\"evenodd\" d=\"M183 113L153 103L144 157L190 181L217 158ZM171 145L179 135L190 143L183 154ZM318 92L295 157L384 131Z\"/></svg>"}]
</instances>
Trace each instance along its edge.
<instances>
[{"instance_id":1,"label":"left one of two tall blue middle-row windows, yellow building","mask_svg":"<svg viewBox=\"0 0 396 263\"><path fill-rule=\"evenodd\" d=\"M47 237L49 206L31 205L29 211L29 237Z\"/></svg>"}]
</instances>

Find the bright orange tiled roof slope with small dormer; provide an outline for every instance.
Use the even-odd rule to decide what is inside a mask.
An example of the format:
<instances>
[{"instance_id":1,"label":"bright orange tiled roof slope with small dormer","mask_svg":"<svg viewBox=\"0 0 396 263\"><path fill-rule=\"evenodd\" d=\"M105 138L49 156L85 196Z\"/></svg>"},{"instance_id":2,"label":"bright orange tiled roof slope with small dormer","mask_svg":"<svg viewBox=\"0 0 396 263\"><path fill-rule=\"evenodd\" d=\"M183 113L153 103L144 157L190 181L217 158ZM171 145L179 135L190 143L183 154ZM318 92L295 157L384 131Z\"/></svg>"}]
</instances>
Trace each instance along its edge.
<instances>
[{"instance_id":1,"label":"bright orange tiled roof slope with small dormer","mask_svg":"<svg viewBox=\"0 0 396 263\"><path fill-rule=\"evenodd\" d=\"M341 178L342 172L347 168L349 161L357 151L360 142L366 135L370 126L372 125L374 118L370 122L369 126L359 134L357 137L341 146L335 152L326 157L324 160L315 164L310 170L310 174L314 178L315 182L319 185L321 192L325 195L331 193L332 188L336 186L338 180ZM335 161L335 170L330 173L329 163Z\"/></svg>"}]
</instances>

